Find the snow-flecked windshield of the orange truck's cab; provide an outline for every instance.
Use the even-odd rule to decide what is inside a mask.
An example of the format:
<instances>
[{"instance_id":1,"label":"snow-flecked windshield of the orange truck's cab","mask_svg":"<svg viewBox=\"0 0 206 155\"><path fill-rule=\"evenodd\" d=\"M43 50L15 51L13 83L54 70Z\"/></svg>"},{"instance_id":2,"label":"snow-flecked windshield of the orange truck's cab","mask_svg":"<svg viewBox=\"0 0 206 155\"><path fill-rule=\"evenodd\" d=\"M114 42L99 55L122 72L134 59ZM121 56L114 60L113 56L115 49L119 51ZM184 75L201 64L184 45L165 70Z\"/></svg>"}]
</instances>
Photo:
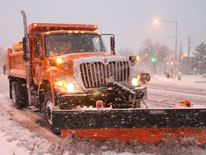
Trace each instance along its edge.
<instances>
[{"instance_id":1,"label":"snow-flecked windshield of the orange truck's cab","mask_svg":"<svg viewBox=\"0 0 206 155\"><path fill-rule=\"evenodd\" d=\"M70 53L106 52L100 35L97 34L51 34L45 36L47 57Z\"/></svg>"}]
</instances>

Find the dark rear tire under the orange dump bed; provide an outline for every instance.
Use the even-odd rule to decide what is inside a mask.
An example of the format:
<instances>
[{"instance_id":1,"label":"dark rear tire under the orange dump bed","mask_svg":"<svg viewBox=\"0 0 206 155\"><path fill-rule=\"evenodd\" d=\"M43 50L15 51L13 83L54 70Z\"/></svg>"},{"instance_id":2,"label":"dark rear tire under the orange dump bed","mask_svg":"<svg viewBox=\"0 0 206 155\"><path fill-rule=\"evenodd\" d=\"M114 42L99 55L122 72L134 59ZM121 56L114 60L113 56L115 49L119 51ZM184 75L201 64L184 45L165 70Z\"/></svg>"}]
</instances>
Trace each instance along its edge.
<instances>
[{"instance_id":1,"label":"dark rear tire under the orange dump bed","mask_svg":"<svg viewBox=\"0 0 206 155\"><path fill-rule=\"evenodd\" d=\"M11 82L11 99L16 109L25 108L27 106L27 92L22 84L23 83L18 80Z\"/></svg>"}]
</instances>

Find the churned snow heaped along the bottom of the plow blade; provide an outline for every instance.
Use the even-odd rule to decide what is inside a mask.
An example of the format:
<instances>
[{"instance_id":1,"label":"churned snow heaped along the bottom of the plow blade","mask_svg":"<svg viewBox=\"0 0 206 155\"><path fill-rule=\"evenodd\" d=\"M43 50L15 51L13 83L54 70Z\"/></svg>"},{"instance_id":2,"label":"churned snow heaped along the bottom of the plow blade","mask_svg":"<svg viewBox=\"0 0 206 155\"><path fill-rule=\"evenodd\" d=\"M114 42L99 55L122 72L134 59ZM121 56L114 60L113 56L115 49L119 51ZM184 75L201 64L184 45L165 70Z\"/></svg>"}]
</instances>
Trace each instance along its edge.
<instances>
[{"instance_id":1,"label":"churned snow heaped along the bottom of the plow blade","mask_svg":"<svg viewBox=\"0 0 206 155\"><path fill-rule=\"evenodd\" d=\"M181 140L165 139L159 144L140 144L135 141L120 142L116 139L107 141L79 139L76 135L68 135L59 146L59 152L63 155L70 154L103 154L103 155L156 155L156 154L206 154L205 146L196 142L193 138Z\"/></svg>"}]
</instances>

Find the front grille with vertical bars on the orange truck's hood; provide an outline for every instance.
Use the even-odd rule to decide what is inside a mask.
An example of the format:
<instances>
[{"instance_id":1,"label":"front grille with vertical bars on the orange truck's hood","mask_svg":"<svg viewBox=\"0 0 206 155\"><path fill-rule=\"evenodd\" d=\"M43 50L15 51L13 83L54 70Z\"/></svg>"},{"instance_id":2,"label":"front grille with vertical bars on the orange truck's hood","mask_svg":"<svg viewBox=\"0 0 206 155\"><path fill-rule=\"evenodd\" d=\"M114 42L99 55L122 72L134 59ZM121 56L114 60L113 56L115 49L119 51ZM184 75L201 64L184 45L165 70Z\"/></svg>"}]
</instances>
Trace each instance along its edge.
<instances>
[{"instance_id":1,"label":"front grille with vertical bars on the orange truck's hood","mask_svg":"<svg viewBox=\"0 0 206 155\"><path fill-rule=\"evenodd\" d=\"M107 65L101 62L80 64L80 73L85 88L107 86L109 82L124 82L129 80L129 63L127 61L112 61Z\"/></svg>"}]
</instances>

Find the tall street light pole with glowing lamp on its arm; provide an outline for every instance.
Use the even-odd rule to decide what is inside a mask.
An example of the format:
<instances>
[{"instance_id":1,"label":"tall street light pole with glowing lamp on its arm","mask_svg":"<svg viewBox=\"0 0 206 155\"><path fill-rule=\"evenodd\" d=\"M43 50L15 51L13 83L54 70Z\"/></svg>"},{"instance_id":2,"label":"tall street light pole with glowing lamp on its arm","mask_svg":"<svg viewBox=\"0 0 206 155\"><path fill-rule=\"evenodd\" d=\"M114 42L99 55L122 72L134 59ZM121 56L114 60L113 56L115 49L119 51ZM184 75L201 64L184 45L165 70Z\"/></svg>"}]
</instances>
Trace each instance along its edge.
<instances>
[{"instance_id":1,"label":"tall street light pole with glowing lamp on its arm","mask_svg":"<svg viewBox=\"0 0 206 155\"><path fill-rule=\"evenodd\" d=\"M177 21L168 21L168 20L162 20L162 19L155 19L154 23L158 24L159 21L161 22L166 22L166 23L172 23L175 24L176 26L176 33L175 33L175 50L174 50L174 64L173 64L173 72L174 72L174 77L176 77L176 71L177 71Z\"/></svg>"}]
</instances>

